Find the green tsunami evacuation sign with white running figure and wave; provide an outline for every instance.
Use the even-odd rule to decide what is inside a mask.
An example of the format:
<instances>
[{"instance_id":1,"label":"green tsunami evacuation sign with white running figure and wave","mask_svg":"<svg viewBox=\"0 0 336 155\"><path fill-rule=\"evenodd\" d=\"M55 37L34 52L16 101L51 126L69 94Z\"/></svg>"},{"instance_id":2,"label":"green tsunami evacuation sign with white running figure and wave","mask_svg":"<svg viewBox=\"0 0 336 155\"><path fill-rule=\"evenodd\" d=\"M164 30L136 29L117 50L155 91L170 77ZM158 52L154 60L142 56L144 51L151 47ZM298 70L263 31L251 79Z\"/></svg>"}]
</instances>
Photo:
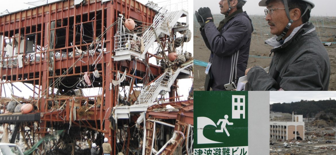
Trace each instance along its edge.
<instances>
[{"instance_id":1,"label":"green tsunami evacuation sign with white running figure and wave","mask_svg":"<svg viewBox=\"0 0 336 155\"><path fill-rule=\"evenodd\" d=\"M194 93L194 155L248 155L248 92Z\"/></svg>"}]
</instances>

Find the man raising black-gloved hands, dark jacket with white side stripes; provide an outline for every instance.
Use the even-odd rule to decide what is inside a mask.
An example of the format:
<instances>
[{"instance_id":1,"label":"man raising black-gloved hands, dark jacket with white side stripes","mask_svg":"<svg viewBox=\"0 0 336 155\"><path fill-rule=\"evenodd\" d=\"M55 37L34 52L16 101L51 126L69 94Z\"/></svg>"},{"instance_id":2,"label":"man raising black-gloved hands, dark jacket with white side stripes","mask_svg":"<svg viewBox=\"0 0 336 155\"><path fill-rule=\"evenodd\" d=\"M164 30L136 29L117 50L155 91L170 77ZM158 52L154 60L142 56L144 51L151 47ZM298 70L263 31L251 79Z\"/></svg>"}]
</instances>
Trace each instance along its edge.
<instances>
[{"instance_id":1,"label":"man raising black-gloved hands, dark jacket with white side stripes","mask_svg":"<svg viewBox=\"0 0 336 155\"><path fill-rule=\"evenodd\" d=\"M244 76L250 51L253 26L250 17L243 11L246 0L220 0L220 13L225 18L219 26L213 22L208 7L195 12L201 25L200 31L206 46L211 50L205 90L232 90L238 79ZM211 79L211 78L210 78ZM225 85L225 86L224 86Z\"/></svg>"}]
</instances>

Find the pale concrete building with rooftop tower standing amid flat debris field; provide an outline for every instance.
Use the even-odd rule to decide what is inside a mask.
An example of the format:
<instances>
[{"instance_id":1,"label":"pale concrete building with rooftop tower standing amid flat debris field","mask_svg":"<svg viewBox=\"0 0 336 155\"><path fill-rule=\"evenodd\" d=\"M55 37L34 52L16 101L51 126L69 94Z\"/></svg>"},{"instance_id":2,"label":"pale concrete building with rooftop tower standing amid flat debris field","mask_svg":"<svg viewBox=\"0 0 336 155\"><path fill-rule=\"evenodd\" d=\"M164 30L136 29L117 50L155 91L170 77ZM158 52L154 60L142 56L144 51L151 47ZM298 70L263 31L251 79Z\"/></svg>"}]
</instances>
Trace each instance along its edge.
<instances>
[{"instance_id":1,"label":"pale concrete building with rooftop tower standing amid flat debris field","mask_svg":"<svg viewBox=\"0 0 336 155\"><path fill-rule=\"evenodd\" d=\"M304 122L302 115L294 115L292 121L270 121L270 138L283 140L304 140Z\"/></svg>"}]
</instances>

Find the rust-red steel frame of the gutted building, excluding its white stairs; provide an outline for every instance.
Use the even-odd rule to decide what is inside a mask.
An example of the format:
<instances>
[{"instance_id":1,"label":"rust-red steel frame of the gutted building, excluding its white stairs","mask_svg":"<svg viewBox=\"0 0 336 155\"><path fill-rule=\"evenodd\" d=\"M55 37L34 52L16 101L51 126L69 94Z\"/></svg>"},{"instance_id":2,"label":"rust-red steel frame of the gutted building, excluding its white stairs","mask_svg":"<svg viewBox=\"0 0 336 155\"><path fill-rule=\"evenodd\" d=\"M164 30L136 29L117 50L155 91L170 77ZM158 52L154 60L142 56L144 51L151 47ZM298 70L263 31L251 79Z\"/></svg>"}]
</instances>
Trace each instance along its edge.
<instances>
[{"instance_id":1,"label":"rust-red steel frame of the gutted building, excluding its white stairs","mask_svg":"<svg viewBox=\"0 0 336 155\"><path fill-rule=\"evenodd\" d=\"M9 96L5 87L16 87L15 82L32 84L33 88L27 86L34 92L29 103L36 107L35 112L41 113L40 127L35 134L44 136L50 132L46 129L55 122L69 122L108 135L113 154L116 154L117 133L110 128L109 115L117 105L119 87L111 87L112 80L118 80L118 71L123 73L127 70L126 75L132 81L125 84L132 90L134 83L149 84L162 74L162 69L144 63L155 56L150 53L146 54L144 61L113 61L114 23L118 15L123 14L126 18L150 25L156 10L135 0L104 3L99 0L84 0L78 5L74 3L74 0L58 1L0 16L0 35L3 36L1 49L6 51L0 57L0 92ZM161 39L165 40L165 37ZM55 95L84 88L83 85L76 85L79 79L85 72L95 70L101 76L92 82L92 87L101 87L100 95ZM93 78L92 74L90 78ZM22 88L15 89L23 91ZM171 101L176 99L176 94L170 93ZM92 102L93 106L84 105L88 102ZM2 101L2 104L5 102ZM74 114L75 105L79 108L85 106L93 114L78 117L78 114Z\"/></svg>"}]
</instances>

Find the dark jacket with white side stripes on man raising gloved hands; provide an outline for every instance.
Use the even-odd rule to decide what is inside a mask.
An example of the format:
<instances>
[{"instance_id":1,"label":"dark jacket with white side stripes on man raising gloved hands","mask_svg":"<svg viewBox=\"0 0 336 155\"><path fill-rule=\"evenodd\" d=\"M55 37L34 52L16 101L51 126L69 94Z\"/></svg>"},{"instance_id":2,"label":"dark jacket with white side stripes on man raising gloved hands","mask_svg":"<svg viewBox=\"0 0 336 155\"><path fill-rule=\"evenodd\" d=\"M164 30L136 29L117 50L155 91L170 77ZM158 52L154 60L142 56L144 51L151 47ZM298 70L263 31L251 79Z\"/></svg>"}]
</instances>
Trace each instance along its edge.
<instances>
[{"instance_id":1,"label":"dark jacket with white side stripes on man raising gloved hands","mask_svg":"<svg viewBox=\"0 0 336 155\"><path fill-rule=\"evenodd\" d=\"M212 90L225 90L225 84L232 81L237 84L238 78L245 75L252 31L252 22L246 12L236 14L220 31L213 22L201 30L203 40L211 50Z\"/></svg>"}]
</instances>

